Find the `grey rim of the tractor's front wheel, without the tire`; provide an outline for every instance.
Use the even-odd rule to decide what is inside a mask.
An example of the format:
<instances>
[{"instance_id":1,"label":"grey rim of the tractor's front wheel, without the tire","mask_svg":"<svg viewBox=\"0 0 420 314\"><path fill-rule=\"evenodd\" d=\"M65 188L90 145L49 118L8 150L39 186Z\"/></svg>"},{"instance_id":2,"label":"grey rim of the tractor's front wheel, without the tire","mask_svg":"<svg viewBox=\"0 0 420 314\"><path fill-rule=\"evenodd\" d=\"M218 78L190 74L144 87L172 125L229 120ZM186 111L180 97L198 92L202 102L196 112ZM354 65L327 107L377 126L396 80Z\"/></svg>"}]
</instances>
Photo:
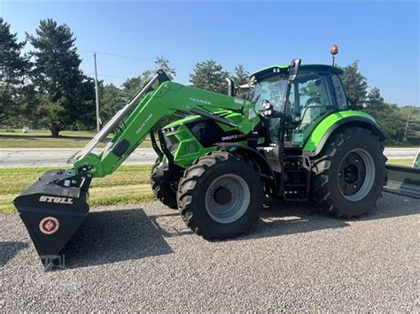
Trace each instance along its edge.
<instances>
[{"instance_id":1,"label":"grey rim of the tractor's front wheel, without the tire","mask_svg":"<svg viewBox=\"0 0 420 314\"><path fill-rule=\"evenodd\" d=\"M206 191L206 211L221 224L244 216L251 193L245 180L236 174L225 174L214 180Z\"/></svg>"}]
</instances>

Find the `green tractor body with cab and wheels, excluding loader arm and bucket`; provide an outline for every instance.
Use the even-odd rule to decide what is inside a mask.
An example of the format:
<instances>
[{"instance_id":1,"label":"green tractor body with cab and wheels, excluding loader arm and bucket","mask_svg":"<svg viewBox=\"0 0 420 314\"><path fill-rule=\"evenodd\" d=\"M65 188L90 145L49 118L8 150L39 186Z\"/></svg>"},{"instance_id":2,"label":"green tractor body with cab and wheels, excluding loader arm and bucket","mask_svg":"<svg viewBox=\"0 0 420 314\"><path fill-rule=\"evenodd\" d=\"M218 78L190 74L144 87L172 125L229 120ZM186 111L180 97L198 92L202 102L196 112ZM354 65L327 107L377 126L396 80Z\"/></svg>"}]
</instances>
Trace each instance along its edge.
<instances>
[{"instance_id":1,"label":"green tractor body with cab and wheels, excluding loader arm and bucket","mask_svg":"<svg viewBox=\"0 0 420 314\"><path fill-rule=\"evenodd\" d=\"M251 77L248 117L214 112L235 126L197 112L163 127L165 149L152 168L157 198L206 238L245 232L264 195L311 200L336 217L369 211L385 184L384 136L351 110L340 73L297 60L271 66ZM253 121L245 133L244 120Z\"/></svg>"}]
</instances>

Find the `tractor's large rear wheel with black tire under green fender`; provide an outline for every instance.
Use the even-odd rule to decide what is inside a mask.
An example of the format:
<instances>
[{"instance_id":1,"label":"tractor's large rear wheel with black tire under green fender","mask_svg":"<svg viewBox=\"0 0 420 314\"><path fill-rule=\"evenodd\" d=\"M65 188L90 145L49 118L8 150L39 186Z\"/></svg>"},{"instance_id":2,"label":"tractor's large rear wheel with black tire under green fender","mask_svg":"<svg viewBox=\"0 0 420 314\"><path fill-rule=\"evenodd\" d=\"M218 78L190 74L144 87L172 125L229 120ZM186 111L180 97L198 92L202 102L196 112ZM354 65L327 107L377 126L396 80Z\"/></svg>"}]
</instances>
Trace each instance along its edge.
<instances>
[{"instance_id":1,"label":"tractor's large rear wheel with black tire under green fender","mask_svg":"<svg viewBox=\"0 0 420 314\"><path fill-rule=\"evenodd\" d=\"M385 184L384 146L361 127L333 134L312 160L312 195L320 209L334 217L351 218L376 205Z\"/></svg>"}]
</instances>

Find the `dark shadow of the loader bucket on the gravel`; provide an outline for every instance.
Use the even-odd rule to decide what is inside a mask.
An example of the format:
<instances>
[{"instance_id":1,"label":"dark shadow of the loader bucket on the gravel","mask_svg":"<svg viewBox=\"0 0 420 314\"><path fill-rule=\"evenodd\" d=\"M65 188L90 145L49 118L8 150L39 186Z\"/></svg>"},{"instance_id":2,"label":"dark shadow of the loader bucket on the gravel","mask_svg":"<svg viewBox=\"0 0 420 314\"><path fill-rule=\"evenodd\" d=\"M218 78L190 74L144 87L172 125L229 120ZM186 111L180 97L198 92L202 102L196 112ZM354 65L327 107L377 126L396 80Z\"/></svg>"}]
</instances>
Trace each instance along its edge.
<instances>
[{"instance_id":1,"label":"dark shadow of the loader bucket on the gravel","mask_svg":"<svg viewBox=\"0 0 420 314\"><path fill-rule=\"evenodd\" d=\"M67 242L66 268L113 264L173 253L142 209L92 211Z\"/></svg>"}]
</instances>

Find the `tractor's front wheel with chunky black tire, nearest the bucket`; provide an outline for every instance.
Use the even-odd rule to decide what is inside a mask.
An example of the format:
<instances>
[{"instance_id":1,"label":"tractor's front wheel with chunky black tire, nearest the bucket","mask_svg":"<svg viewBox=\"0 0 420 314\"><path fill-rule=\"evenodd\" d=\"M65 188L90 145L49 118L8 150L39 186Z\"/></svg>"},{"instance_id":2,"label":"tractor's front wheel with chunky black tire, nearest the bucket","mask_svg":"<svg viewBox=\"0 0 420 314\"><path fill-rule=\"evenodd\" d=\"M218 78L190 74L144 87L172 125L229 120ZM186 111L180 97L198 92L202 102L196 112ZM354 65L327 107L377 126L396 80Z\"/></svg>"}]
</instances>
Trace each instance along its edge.
<instances>
[{"instance_id":1,"label":"tractor's front wheel with chunky black tire, nearest the bucket","mask_svg":"<svg viewBox=\"0 0 420 314\"><path fill-rule=\"evenodd\" d=\"M260 173L240 156L214 151L187 168L177 199L183 220L195 234L235 237L247 232L261 211Z\"/></svg>"}]
</instances>

